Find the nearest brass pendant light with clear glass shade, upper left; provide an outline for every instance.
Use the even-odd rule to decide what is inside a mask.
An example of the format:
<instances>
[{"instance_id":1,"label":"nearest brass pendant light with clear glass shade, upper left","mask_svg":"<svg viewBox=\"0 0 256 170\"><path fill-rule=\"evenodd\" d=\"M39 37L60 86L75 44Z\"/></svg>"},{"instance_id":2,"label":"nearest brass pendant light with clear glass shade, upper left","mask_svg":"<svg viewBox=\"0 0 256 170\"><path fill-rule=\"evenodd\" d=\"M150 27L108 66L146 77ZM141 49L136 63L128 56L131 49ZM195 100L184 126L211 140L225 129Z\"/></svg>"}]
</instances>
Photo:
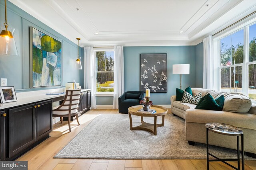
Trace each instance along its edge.
<instances>
[{"instance_id":1,"label":"nearest brass pendant light with clear glass shade, upper left","mask_svg":"<svg viewBox=\"0 0 256 170\"><path fill-rule=\"evenodd\" d=\"M15 29L12 29L12 32L8 31L9 25L7 23L6 0L4 0L4 7L5 7L5 23L4 23L5 30L2 30L0 34L0 54L18 56L18 51L17 51L15 39L13 36Z\"/></svg>"}]
</instances>

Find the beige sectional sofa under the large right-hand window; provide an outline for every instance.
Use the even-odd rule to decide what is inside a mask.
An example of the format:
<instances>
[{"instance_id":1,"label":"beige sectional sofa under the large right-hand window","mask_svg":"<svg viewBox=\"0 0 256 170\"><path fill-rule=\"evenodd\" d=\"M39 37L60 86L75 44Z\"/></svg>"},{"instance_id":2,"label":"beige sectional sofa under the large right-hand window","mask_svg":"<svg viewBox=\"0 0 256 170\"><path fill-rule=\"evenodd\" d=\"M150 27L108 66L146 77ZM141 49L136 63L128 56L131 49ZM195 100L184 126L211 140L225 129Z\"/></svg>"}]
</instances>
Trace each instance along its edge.
<instances>
[{"instance_id":1,"label":"beige sectional sofa under the large right-hand window","mask_svg":"<svg viewBox=\"0 0 256 170\"><path fill-rule=\"evenodd\" d=\"M202 97L210 93L214 99L224 95L222 111L194 109L196 105L176 101L171 96L171 111L186 121L186 140L190 145L195 142L206 143L206 127L208 122L227 123L240 127L244 131L244 151L248 156L256 157L256 105L251 100L237 93L216 92L214 90L191 88L193 96L202 93ZM236 149L236 137L209 132L209 144Z\"/></svg>"}]
</instances>

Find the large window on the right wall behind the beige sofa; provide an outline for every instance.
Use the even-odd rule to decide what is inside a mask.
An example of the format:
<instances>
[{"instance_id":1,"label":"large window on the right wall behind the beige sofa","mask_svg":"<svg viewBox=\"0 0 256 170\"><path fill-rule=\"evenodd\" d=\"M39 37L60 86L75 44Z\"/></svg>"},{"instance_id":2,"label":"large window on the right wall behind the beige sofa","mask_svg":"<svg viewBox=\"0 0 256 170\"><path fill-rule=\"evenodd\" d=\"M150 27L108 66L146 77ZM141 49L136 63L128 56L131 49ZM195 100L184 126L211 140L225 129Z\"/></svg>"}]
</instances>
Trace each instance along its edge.
<instances>
[{"instance_id":1,"label":"large window on the right wall behind the beige sofa","mask_svg":"<svg viewBox=\"0 0 256 170\"><path fill-rule=\"evenodd\" d=\"M256 102L256 23L218 38L218 45L220 91L242 93Z\"/></svg>"}]
</instances>

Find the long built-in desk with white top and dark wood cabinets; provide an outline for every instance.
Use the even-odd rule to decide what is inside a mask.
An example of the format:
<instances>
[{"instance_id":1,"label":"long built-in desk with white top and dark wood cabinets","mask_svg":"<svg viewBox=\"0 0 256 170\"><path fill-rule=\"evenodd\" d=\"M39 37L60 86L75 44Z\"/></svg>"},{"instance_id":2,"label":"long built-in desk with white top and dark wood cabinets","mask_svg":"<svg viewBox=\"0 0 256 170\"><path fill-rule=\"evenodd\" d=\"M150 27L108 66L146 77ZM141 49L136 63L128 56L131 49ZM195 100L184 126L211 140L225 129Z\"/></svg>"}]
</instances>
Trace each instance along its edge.
<instances>
[{"instance_id":1,"label":"long built-in desk with white top and dark wood cabinets","mask_svg":"<svg viewBox=\"0 0 256 170\"><path fill-rule=\"evenodd\" d=\"M0 160L15 160L48 137L52 131L52 104L66 94L39 90L16 93L17 102L0 104ZM79 114L90 108L90 89L82 89Z\"/></svg>"}]
</instances>

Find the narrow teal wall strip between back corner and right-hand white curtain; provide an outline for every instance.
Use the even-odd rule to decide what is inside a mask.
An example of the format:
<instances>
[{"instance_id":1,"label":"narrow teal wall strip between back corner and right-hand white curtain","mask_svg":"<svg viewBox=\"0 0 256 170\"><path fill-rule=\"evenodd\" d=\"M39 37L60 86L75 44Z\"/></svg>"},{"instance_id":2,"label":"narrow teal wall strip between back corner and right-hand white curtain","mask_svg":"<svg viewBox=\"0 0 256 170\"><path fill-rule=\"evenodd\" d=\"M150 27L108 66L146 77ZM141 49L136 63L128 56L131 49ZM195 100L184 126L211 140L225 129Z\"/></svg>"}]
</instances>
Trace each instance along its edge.
<instances>
[{"instance_id":1,"label":"narrow teal wall strip between back corner and right-hand white curtain","mask_svg":"<svg viewBox=\"0 0 256 170\"><path fill-rule=\"evenodd\" d=\"M196 45L196 87L203 88L204 44Z\"/></svg>"}]
</instances>

